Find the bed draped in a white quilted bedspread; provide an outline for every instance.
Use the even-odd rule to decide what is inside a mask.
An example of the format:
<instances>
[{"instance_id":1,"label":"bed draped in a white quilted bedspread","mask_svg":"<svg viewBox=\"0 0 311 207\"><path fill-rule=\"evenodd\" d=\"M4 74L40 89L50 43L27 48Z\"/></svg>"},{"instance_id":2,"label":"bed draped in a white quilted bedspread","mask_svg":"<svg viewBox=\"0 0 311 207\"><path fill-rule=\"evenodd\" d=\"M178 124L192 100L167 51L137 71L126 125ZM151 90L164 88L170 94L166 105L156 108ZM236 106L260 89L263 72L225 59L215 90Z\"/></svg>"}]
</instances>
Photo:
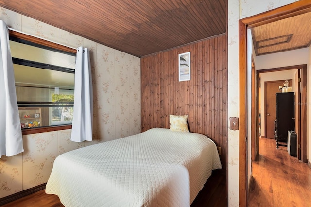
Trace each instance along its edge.
<instances>
[{"instance_id":1,"label":"bed draped in a white quilted bedspread","mask_svg":"<svg viewBox=\"0 0 311 207\"><path fill-rule=\"evenodd\" d=\"M59 155L46 193L66 207L189 207L219 168L205 135L153 128Z\"/></svg>"}]
</instances>

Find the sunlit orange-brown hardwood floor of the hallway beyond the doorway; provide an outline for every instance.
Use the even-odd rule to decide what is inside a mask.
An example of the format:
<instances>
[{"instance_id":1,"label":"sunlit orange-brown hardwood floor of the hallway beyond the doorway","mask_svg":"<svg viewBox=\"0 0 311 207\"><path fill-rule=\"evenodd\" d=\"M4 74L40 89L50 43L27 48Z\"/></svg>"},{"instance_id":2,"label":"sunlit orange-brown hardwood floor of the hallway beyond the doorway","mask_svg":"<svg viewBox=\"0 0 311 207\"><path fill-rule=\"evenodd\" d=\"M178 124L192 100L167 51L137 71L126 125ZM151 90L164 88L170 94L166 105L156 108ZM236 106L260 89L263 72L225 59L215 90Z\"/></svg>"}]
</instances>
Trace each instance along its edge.
<instances>
[{"instance_id":1,"label":"sunlit orange-brown hardwood floor of the hallway beyond the doorway","mask_svg":"<svg viewBox=\"0 0 311 207\"><path fill-rule=\"evenodd\" d=\"M274 139L259 138L259 159L252 163L248 207L311 207L311 169L276 149Z\"/></svg>"}]
</instances>

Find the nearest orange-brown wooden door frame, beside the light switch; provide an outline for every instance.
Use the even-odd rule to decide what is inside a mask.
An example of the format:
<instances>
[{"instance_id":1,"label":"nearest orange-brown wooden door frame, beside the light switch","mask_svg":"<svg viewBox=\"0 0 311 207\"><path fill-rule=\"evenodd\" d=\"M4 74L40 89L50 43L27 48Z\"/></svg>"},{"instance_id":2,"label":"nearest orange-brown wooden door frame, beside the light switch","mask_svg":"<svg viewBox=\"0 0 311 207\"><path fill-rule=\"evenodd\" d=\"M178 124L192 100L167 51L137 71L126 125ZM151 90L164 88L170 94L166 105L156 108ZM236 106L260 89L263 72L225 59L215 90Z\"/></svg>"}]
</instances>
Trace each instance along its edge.
<instances>
[{"instance_id":1,"label":"nearest orange-brown wooden door frame, beside the light switch","mask_svg":"<svg viewBox=\"0 0 311 207\"><path fill-rule=\"evenodd\" d=\"M300 0L239 20L239 206L247 206L247 29L311 11L311 1ZM306 77L307 79L307 77ZM307 81L307 80L306 80ZM306 90L306 88L302 88ZM307 101L307 100L305 100ZM306 113L304 110L301 113ZM304 117L303 119L306 119ZM303 125L303 124L302 124ZM227 181L228 182L228 181Z\"/></svg>"}]
</instances>

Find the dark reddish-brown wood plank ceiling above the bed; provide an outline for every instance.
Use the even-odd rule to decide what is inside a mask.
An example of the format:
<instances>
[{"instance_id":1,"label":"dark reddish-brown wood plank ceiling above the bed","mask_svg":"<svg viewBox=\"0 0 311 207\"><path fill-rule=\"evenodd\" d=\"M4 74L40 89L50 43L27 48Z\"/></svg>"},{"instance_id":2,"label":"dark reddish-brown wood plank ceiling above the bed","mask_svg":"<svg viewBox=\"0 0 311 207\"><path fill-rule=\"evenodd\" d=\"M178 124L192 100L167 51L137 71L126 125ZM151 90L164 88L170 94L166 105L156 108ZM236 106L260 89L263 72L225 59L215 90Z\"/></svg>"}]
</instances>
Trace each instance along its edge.
<instances>
[{"instance_id":1,"label":"dark reddish-brown wood plank ceiling above the bed","mask_svg":"<svg viewBox=\"0 0 311 207\"><path fill-rule=\"evenodd\" d=\"M225 33L227 5L227 0L0 0L4 8L137 57Z\"/></svg>"}]
</instances>

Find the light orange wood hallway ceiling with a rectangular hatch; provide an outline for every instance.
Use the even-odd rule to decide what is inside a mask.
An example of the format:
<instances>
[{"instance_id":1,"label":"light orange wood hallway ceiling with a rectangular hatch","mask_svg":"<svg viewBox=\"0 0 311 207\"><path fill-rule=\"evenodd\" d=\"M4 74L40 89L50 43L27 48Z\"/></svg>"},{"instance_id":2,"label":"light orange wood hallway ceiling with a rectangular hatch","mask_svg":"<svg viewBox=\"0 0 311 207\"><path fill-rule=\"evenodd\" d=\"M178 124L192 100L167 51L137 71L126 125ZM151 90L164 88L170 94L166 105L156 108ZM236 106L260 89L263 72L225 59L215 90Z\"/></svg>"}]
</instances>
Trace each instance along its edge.
<instances>
[{"instance_id":1,"label":"light orange wood hallway ceiling with a rectangular hatch","mask_svg":"<svg viewBox=\"0 0 311 207\"><path fill-rule=\"evenodd\" d=\"M256 56L309 47L310 22L308 12L252 28Z\"/></svg>"}]
</instances>

